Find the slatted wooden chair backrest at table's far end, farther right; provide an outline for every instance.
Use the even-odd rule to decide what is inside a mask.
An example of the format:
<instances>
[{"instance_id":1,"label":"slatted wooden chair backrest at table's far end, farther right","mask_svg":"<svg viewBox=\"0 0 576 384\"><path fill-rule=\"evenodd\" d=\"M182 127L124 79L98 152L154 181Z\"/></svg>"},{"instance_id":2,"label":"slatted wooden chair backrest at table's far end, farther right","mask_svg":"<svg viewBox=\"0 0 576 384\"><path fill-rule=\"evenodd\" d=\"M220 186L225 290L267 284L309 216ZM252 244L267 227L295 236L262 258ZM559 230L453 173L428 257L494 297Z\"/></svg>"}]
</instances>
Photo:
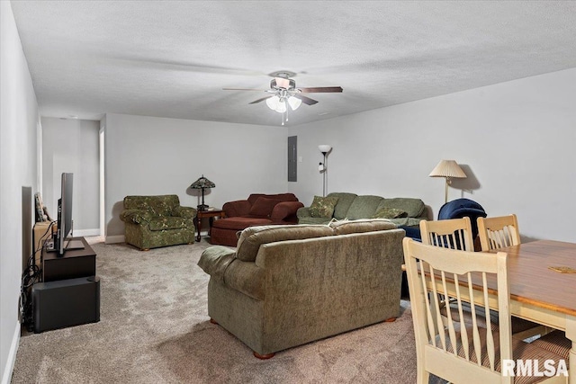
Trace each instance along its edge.
<instances>
[{"instance_id":1,"label":"slatted wooden chair backrest at table's far end, farther right","mask_svg":"<svg viewBox=\"0 0 576 384\"><path fill-rule=\"evenodd\" d=\"M520 232L516 215L478 218L478 235L482 251L518 246Z\"/></svg>"}]
</instances>

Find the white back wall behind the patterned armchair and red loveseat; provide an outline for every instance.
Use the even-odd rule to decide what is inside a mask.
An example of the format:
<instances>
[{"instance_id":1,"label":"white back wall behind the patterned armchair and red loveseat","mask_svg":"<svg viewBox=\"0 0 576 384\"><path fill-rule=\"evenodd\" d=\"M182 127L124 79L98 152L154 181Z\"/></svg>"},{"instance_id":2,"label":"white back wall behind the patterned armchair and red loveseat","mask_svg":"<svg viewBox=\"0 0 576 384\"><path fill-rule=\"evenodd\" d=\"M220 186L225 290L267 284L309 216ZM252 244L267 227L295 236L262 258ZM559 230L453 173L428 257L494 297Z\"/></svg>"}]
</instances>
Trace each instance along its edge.
<instances>
[{"instance_id":1,"label":"white back wall behind the patterned armchair and red loveseat","mask_svg":"<svg viewBox=\"0 0 576 384\"><path fill-rule=\"evenodd\" d=\"M287 129L211 121L107 114L104 133L106 241L123 236L127 195L175 193L196 207L189 189L202 174L216 184L205 203L221 207L250 193L287 189Z\"/></svg>"}]
</instances>

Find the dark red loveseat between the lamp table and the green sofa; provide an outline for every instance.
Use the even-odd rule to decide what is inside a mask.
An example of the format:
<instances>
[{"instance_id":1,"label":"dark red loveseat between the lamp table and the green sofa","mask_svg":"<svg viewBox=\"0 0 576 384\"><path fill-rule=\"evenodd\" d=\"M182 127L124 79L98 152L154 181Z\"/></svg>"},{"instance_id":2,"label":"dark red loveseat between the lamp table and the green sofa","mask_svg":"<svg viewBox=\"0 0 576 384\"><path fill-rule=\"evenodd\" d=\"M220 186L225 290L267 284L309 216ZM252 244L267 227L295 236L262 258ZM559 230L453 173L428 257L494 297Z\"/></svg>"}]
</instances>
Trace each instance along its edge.
<instances>
[{"instance_id":1,"label":"dark red loveseat between the lamp table and the green sofa","mask_svg":"<svg viewBox=\"0 0 576 384\"><path fill-rule=\"evenodd\" d=\"M236 246L236 233L244 228L279 224L296 224L296 212L304 204L293 193L252 193L247 200L229 201L222 210L226 219L214 221L211 244Z\"/></svg>"}]
</instances>

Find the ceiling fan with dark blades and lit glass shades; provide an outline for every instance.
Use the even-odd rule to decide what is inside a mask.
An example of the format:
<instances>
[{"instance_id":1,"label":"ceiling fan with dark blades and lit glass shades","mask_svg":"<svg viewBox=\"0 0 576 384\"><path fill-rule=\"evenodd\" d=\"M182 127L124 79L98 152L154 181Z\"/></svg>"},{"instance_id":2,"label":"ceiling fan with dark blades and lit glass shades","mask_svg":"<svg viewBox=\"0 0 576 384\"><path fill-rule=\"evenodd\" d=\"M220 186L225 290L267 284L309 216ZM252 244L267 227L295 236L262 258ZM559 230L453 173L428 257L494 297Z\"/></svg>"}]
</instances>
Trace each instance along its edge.
<instances>
[{"instance_id":1,"label":"ceiling fan with dark blades and lit glass shades","mask_svg":"<svg viewBox=\"0 0 576 384\"><path fill-rule=\"evenodd\" d=\"M341 86L317 86L308 88L296 88L296 82L291 78L296 76L294 72L278 71L273 72L269 76L274 77L270 81L270 89L254 89L254 88L222 88L225 91L259 91L266 92L268 95L255 100L250 104L260 103L266 100L268 108L275 112L282 113L282 125L288 121L288 106L293 111L296 111L302 103L307 105L314 105L318 101L311 99L303 94L326 94L326 93L341 93Z\"/></svg>"}]
</instances>

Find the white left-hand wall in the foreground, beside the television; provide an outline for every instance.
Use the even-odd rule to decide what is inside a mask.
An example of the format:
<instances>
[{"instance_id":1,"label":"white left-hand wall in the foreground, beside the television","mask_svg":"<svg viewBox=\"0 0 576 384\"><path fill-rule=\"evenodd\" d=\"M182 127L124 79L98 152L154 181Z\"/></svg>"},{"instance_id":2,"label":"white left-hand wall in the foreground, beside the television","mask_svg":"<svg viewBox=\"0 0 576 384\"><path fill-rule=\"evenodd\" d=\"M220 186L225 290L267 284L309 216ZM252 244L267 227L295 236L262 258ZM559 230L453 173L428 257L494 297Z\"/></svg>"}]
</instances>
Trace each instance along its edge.
<instances>
[{"instance_id":1,"label":"white left-hand wall in the foreground, beside the television","mask_svg":"<svg viewBox=\"0 0 576 384\"><path fill-rule=\"evenodd\" d=\"M10 382L20 339L22 187L38 191L40 119L10 2L0 1L0 378ZM30 201L31 203L31 201ZM33 210L32 210L33 212ZM32 219L33 222L33 219Z\"/></svg>"}]
</instances>

